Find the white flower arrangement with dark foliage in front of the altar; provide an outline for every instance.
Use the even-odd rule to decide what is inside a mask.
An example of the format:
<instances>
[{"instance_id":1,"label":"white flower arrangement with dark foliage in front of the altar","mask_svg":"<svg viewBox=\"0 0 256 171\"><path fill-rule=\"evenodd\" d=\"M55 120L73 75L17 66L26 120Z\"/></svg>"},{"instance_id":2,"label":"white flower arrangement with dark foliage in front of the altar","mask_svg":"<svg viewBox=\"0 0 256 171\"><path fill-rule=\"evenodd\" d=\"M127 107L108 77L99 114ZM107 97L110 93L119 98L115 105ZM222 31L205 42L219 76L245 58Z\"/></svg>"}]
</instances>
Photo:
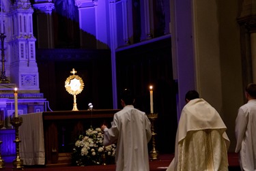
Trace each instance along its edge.
<instances>
[{"instance_id":1,"label":"white flower arrangement with dark foliage in front of the altar","mask_svg":"<svg viewBox=\"0 0 256 171\"><path fill-rule=\"evenodd\" d=\"M104 134L99 127L87 129L74 143L72 163L76 166L113 164L116 146L103 146L103 138Z\"/></svg>"}]
</instances>

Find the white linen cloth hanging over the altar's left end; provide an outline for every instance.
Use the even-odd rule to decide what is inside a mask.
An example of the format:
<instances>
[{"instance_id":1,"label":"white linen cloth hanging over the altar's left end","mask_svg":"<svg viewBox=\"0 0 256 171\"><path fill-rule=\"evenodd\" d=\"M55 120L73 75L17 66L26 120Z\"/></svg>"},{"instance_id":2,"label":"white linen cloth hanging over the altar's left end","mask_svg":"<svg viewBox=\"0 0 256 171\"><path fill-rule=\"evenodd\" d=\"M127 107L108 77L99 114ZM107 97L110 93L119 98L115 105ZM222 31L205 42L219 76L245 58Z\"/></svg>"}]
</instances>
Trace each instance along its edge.
<instances>
[{"instance_id":1,"label":"white linen cloth hanging over the altar's left end","mask_svg":"<svg viewBox=\"0 0 256 171\"><path fill-rule=\"evenodd\" d=\"M24 165L44 165L44 127L42 112L20 115L23 123L19 127L20 158Z\"/></svg>"}]
</instances>

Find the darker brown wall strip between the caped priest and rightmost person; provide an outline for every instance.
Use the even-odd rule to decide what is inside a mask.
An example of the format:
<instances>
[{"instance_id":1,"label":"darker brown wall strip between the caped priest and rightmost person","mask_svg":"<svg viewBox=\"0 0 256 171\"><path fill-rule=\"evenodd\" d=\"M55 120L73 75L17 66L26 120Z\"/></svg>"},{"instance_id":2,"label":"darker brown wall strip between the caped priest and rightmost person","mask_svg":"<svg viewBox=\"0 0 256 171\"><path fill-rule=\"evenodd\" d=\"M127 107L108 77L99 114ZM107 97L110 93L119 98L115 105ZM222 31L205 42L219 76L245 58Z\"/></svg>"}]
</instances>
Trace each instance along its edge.
<instances>
[{"instance_id":1,"label":"darker brown wall strip between the caped priest and rightmost person","mask_svg":"<svg viewBox=\"0 0 256 171\"><path fill-rule=\"evenodd\" d=\"M227 134L231 139L229 151L234 151L234 133L238 108L244 101L244 78L242 53L240 50L240 28L236 18L240 14L242 1L217 1L220 37L220 59L222 73L223 119L227 124ZM227 10L230 7L231 10ZM248 84L249 82L246 82Z\"/></svg>"}]
</instances>

